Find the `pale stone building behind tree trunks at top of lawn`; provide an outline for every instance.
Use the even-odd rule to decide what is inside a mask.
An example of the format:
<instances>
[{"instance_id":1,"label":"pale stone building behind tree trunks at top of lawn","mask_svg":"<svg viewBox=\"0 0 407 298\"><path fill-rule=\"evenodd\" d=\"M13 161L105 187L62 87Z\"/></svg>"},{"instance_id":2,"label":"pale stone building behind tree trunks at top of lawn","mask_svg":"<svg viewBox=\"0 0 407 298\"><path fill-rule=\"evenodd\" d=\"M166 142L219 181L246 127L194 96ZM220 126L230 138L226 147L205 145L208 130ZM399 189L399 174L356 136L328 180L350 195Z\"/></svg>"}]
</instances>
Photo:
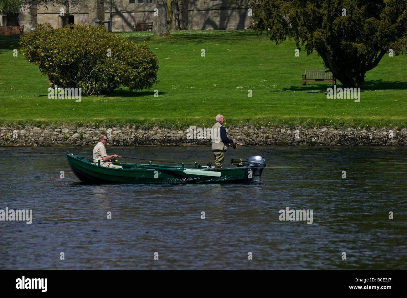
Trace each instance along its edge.
<instances>
[{"instance_id":1,"label":"pale stone building behind tree trunks at top of lawn","mask_svg":"<svg viewBox=\"0 0 407 298\"><path fill-rule=\"evenodd\" d=\"M30 27L36 27L45 22L55 28L62 27L68 19L61 16L65 12L64 2L65 0L55 0L46 6L31 8L23 6L18 14L1 16L1 25L24 25L24 32L28 32ZM153 22L153 30L155 30L157 24L157 17L154 15L155 2L156 0L70 0L69 22L89 25L104 23L109 26L111 18L112 31L131 31L137 22ZM168 8L170 30L246 29L252 23L249 6L227 0L170 0L168 2L170 3Z\"/></svg>"}]
</instances>

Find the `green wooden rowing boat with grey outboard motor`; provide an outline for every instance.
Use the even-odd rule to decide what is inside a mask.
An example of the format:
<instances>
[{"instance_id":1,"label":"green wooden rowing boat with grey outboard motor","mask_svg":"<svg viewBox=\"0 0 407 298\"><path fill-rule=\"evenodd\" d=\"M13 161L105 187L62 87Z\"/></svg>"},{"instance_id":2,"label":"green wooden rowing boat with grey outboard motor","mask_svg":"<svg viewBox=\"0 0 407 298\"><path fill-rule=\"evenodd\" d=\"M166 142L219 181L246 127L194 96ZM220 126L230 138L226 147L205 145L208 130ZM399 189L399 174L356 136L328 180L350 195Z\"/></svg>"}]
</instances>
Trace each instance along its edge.
<instances>
[{"instance_id":1,"label":"green wooden rowing boat with grey outboard motor","mask_svg":"<svg viewBox=\"0 0 407 298\"><path fill-rule=\"evenodd\" d=\"M66 152L68 164L75 176L82 182L99 183L210 183L210 182L260 182L263 168L266 166L263 156L251 156L247 162L241 159L232 160L232 166L212 168L201 166L195 162L194 166L177 166L161 164L113 164L123 168L108 168L95 164L81 155Z\"/></svg>"}]
</instances>

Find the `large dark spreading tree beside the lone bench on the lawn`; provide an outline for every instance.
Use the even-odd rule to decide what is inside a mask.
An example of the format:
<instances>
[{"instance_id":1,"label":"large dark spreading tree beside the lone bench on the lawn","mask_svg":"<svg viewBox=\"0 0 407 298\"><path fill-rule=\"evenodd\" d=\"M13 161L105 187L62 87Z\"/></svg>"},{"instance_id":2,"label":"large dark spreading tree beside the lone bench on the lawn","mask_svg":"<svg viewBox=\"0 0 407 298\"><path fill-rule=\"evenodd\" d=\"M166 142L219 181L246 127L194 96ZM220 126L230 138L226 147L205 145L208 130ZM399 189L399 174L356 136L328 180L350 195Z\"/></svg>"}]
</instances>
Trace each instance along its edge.
<instances>
[{"instance_id":1,"label":"large dark spreading tree beside the lone bench on the lawn","mask_svg":"<svg viewBox=\"0 0 407 298\"><path fill-rule=\"evenodd\" d=\"M344 87L363 87L365 73L392 50L407 49L407 0L253 0L253 29L276 43L294 39L317 51ZM346 11L345 11L346 10Z\"/></svg>"}]
</instances>

